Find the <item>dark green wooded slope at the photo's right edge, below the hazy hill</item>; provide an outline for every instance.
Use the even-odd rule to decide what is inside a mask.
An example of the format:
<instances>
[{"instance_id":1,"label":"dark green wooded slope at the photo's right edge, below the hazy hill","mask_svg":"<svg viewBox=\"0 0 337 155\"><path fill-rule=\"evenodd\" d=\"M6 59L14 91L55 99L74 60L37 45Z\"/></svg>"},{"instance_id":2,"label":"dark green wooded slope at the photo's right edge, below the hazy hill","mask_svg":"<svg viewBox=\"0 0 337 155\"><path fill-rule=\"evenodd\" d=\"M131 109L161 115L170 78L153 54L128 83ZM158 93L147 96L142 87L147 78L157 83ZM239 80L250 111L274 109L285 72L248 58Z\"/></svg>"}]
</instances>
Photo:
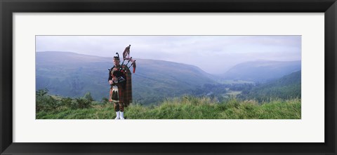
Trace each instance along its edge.
<instances>
[{"instance_id":1,"label":"dark green wooded slope at the photo's right edge, below the hazy hill","mask_svg":"<svg viewBox=\"0 0 337 155\"><path fill-rule=\"evenodd\" d=\"M258 101L270 101L276 97L282 99L301 98L301 71L243 90L240 97Z\"/></svg>"}]
</instances>

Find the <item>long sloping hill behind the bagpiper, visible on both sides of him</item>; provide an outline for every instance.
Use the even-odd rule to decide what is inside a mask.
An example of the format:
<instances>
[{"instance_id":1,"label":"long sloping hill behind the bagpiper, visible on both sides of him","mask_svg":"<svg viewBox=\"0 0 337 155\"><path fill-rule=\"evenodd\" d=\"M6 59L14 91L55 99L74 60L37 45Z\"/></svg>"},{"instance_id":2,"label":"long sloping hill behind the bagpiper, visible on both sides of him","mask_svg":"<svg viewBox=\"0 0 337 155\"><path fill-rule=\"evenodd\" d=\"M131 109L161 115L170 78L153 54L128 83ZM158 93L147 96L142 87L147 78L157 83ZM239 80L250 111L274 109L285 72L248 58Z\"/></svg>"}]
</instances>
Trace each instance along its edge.
<instances>
[{"instance_id":1,"label":"long sloping hill behind the bagpiper, visible on both sides of him","mask_svg":"<svg viewBox=\"0 0 337 155\"><path fill-rule=\"evenodd\" d=\"M192 65L136 60L136 74L132 75L133 99L136 102L147 104L163 97L178 97L192 92L197 86L215 83L211 75ZM37 90L48 88L51 94L68 97L80 97L91 92L95 100L101 100L109 95L107 69L112 66L112 58L70 52L38 52L36 87Z\"/></svg>"}]
</instances>

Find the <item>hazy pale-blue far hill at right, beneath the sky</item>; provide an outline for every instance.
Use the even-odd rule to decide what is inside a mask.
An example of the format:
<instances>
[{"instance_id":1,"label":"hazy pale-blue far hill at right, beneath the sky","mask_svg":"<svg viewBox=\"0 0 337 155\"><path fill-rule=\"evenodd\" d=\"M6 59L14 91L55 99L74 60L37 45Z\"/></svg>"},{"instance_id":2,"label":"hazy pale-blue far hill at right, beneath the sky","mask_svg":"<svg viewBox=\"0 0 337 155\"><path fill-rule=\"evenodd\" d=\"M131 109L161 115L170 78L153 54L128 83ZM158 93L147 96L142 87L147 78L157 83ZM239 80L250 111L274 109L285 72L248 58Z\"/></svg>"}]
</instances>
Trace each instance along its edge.
<instances>
[{"instance_id":1,"label":"hazy pale-blue far hill at right, beneath the sky","mask_svg":"<svg viewBox=\"0 0 337 155\"><path fill-rule=\"evenodd\" d=\"M221 77L223 79L265 82L271 79L278 79L291 72L296 72L300 68L300 61L258 60L235 65L225 72L225 74L221 75Z\"/></svg>"}]
</instances>

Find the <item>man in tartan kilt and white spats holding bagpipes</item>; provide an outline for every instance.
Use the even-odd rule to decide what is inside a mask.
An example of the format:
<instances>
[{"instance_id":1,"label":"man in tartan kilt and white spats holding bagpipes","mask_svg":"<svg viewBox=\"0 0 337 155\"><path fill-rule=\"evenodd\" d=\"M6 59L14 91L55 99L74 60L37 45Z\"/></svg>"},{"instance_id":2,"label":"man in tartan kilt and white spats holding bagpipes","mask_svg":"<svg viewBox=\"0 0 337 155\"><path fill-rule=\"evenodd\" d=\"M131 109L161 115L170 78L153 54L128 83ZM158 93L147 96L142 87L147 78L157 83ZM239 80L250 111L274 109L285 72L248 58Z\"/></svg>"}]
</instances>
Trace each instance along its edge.
<instances>
[{"instance_id":1,"label":"man in tartan kilt and white spats holding bagpipes","mask_svg":"<svg viewBox=\"0 0 337 155\"><path fill-rule=\"evenodd\" d=\"M128 46L130 48L130 46ZM124 107L128 107L132 102L132 81L129 67L123 63L120 65L119 54L114 56L114 67L109 69L108 82L111 86L109 101L114 103L114 111L116 112L115 119L124 119ZM128 62L131 58L128 59ZM133 73L136 69L136 60L131 63ZM130 67L131 67L130 65Z\"/></svg>"}]
</instances>

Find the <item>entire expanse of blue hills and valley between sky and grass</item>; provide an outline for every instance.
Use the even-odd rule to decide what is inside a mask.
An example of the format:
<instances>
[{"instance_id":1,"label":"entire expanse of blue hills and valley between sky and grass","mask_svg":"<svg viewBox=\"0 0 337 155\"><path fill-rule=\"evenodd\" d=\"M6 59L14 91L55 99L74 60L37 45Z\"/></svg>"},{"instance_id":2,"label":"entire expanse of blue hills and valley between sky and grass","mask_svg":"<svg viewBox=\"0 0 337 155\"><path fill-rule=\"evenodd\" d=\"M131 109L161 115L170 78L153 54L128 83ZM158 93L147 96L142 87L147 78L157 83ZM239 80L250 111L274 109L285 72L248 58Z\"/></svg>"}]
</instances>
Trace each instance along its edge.
<instances>
[{"instance_id":1,"label":"entire expanse of blue hills and valley between sky and grass","mask_svg":"<svg viewBox=\"0 0 337 155\"><path fill-rule=\"evenodd\" d=\"M36 90L47 88L50 94L63 97L81 97L89 92L98 102L109 95L107 69L112 67L112 58L39 52L36 66ZM298 61L259 60L236 65L223 76L214 76L193 65L137 59L136 73L132 74L133 101L150 106L161 104L167 98L185 95L211 97L217 102L233 96L243 100L258 98L260 101L265 100L265 95L283 99L300 98L300 72L297 76L284 78L298 70ZM289 84L286 81L296 82ZM267 91L274 93L267 94Z\"/></svg>"}]
</instances>

